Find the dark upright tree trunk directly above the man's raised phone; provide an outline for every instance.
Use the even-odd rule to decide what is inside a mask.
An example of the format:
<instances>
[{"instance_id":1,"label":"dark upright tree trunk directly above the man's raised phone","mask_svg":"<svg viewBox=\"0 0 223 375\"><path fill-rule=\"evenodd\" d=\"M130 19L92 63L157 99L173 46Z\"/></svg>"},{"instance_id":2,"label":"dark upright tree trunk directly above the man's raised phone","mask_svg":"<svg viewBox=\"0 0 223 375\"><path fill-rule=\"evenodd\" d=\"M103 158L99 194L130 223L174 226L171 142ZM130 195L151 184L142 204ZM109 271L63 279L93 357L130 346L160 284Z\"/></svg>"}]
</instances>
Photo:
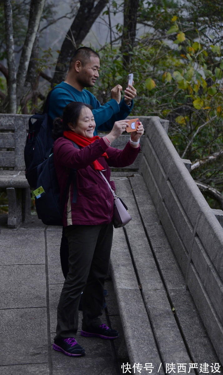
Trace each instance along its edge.
<instances>
[{"instance_id":1,"label":"dark upright tree trunk directly above the man's raised phone","mask_svg":"<svg viewBox=\"0 0 223 375\"><path fill-rule=\"evenodd\" d=\"M127 71L130 68L132 57L129 52L132 52L135 42L138 6L139 0L124 1L124 22L121 51L123 54L123 66Z\"/></svg>"}]
</instances>

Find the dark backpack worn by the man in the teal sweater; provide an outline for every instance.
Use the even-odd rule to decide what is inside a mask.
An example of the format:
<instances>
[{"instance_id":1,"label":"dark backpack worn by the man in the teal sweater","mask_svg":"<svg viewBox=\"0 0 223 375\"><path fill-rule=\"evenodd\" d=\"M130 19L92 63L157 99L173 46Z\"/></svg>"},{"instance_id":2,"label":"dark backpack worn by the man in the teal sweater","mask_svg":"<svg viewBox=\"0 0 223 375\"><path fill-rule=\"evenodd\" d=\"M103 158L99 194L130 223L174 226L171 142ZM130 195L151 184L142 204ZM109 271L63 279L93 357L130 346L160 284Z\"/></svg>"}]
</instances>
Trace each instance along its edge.
<instances>
[{"instance_id":1,"label":"dark backpack worn by the man in the teal sweater","mask_svg":"<svg viewBox=\"0 0 223 375\"><path fill-rule=\"evenodd\" d=\"M48 115L48 110L50 95L56 88L57 86L49 92L43 113L35 113L29 118L29 132L24 148L25 177L27 178L30 187L35 189L37 187L38 178L37 167L44 160L48 159L52 153L54 143L51 135L53 122ZM63 90L72 95L70 91L64 88Z\"/></svg>"}]
</instances>

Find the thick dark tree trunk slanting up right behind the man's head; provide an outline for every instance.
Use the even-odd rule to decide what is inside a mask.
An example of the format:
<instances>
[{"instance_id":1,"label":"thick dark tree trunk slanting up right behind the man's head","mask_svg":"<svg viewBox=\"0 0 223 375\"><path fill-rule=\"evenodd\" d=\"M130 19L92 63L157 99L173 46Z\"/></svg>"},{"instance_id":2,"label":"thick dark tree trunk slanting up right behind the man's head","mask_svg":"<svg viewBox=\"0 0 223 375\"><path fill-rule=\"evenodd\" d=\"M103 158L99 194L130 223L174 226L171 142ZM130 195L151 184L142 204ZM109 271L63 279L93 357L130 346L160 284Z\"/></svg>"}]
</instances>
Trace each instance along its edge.
<instances>
[{"instance_id":1,"label":"thick dark tree trunk slanting up right behind the man's head","mask_svg":"<svg viewBox=\"0 0 223 375\"><path fill-rule=\"evenodd\" d=\"M108 0L99 0L95 6L94 3L94 0L80 0L79 10L62 44L52 84L58 84L64 80L71 56L85 39Z\"/></svg>"}]
</instances>

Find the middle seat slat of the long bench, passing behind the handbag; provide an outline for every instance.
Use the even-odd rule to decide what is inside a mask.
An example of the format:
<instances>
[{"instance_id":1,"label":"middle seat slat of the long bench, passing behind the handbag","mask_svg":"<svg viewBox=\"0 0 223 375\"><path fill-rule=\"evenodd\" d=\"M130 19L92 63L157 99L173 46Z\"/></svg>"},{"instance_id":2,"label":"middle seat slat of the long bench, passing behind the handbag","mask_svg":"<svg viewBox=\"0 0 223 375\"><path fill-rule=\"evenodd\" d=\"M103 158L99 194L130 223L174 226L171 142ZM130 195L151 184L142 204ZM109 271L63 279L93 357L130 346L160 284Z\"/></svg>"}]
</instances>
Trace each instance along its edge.
<instances>
[{"instance_id":1,"label":"middle seat slat of the long bench, passing behind the handbag","mask_svg":"<svg viewBox=\"0 0 223 375\"><path fill-rule=\"evenodd\" d=\"M116 181L117 191L128 206L132 220L126 225L131 254L142 288L144 302L153 326L153 333L162 353L164 363L190 361L180 335L177 323L168 302L165 286L162 283L152 251L147 241L131 185L128 179ZM153 300L152 305L150 302Z\"/></svg>"}]
</instances>

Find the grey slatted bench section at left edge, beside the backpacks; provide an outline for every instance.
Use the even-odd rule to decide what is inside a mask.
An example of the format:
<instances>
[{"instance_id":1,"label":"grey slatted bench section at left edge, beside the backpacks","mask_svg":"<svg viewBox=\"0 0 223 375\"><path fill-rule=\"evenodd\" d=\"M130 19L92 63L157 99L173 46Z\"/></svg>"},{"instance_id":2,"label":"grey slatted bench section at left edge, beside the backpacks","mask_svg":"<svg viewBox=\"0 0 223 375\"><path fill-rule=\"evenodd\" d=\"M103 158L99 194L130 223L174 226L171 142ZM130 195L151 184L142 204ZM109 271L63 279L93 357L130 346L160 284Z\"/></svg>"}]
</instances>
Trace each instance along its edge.
<instances>
[{"instance_id":1,"label":"grey slatted bench section at left edge, beside the backpacks","mask_svg":"<svg viewBox=\"0 0 223 375\"><path fill-rule=\"evenodd\" d=\"M0 187L6 188L7 224L16 228L30 219L30 187L25 178L24 146L29 115L0 114Z\"/></svg>"}]
</instances>

